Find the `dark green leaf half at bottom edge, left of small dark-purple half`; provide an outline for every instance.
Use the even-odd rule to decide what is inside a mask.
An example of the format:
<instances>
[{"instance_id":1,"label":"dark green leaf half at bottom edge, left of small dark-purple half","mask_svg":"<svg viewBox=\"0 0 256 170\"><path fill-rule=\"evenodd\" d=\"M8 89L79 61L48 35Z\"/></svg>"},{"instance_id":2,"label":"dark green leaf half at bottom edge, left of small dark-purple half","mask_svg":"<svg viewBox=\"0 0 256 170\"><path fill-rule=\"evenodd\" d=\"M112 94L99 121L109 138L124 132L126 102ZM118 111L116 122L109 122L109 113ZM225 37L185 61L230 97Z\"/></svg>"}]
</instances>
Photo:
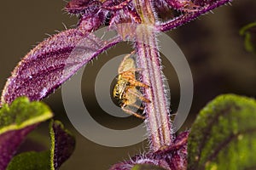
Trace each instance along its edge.
<instances>
[{"instance_id":1,"label":"dark green leaf half at bottom edge, left of small dark-purple half","mask_svg":"<svg viewBox=\"0 0 256 170\"><path fill-rule=\"evenodd\" d=\"M49 169L49 151L26 152L9 163L7 170L47 170Z\"/></svg>"}]
</instances>

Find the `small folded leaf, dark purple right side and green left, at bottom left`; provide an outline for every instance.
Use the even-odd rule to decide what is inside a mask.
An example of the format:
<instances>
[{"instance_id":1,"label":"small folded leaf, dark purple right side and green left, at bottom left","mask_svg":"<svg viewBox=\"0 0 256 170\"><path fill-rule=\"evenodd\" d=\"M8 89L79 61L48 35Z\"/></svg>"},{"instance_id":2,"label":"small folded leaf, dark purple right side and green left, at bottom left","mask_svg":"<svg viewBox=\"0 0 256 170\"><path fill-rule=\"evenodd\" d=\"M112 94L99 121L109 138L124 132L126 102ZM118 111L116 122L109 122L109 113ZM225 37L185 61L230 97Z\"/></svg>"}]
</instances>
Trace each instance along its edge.
<instances>
[{"instance_id":1,"label":"small folded leaf, dark purple right side and green left, at bottom left","mask_svg":"<svg viewBox=\"0 0 256 170\"><path fill-rule=\"evenodd\" d=\"M41 152L29 151L15 156L8 170L55 170L73 153L75 139L59 121L50 122L51 148ZM50 163L49 163L50 162ZM1 168L2 170L2 168Z\"/></svg>"}]
</instances>

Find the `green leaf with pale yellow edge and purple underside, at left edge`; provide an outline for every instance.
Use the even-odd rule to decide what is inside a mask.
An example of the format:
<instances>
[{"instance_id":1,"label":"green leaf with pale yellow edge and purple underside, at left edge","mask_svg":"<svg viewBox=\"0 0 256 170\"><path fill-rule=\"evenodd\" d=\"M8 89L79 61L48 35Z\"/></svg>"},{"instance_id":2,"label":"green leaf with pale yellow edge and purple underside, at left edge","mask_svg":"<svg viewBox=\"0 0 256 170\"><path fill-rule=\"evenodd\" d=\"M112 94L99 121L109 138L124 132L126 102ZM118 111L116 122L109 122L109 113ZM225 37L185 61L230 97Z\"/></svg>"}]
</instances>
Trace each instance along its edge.
<instances>
[{"instance_id":1,"label":"green leaf with pale yellow edge and purple underside, at left edge","mask_svg":"<svg viewBox=\"0 0 256 170\"><path fill-rule=\"evenodd\" d=\"M0 110L0 169L5 169L26 135L53 114L42 102L21 97Z\"/></svg>"}]
</instances>

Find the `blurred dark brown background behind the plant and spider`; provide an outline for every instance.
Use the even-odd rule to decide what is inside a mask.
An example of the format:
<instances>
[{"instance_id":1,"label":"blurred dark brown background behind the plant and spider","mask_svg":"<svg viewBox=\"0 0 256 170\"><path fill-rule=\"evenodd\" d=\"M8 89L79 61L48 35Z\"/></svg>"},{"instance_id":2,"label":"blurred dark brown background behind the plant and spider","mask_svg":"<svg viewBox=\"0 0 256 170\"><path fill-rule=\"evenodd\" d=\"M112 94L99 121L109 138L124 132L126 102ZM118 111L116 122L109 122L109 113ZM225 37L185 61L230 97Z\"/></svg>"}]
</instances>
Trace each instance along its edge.
<instances>
[{"instance_id":1,"label":"blurred dark brown background behind the plant and spider","mask_svg":"<svg viewBox=\"0 0 256 170\"><path fill-rule=\"evenodd\" d=\"M4 83L20 59L38 42L49 37L46 34L63 31L65 26L75 26L77 19L63 11L65 4L61 0L1 2L0 89L3 89ZM255 9L254 0L236 0L231 6L217 8L213 10L214 14L201 16L168 32L187 57L195 84L193 105L183 130L191 126L198 111L218 94L232 93L256 97L256 55L245 50L243 37L239 35L242 26L256 20ZM119 44L109 50L108 54L101 54L85 69L90 74L83 77L82 91L86 96L84 103L96 121L106 127L125 129L140 123L140 120L134 117L122 119L108 116L97 105L93 94L96 74L102 65L113 56L129 53L130 50L131 46ZM177 75L166 59L163 59L163 64L172 92L172 111L175 112L179 99ZM147 141L124 148L95 144L80 135L68 121L61 102L60 89L44 101L55 112L55 119L61 120L77 139L73 156L63 164L61 170L108 169L114 163L148 149ZM22 150L42 150L49 147L48 136L48 122L44 122L29 135ZM33 146L35 142L41 142L41 146Z\"/></svg>"}]
</instances>

